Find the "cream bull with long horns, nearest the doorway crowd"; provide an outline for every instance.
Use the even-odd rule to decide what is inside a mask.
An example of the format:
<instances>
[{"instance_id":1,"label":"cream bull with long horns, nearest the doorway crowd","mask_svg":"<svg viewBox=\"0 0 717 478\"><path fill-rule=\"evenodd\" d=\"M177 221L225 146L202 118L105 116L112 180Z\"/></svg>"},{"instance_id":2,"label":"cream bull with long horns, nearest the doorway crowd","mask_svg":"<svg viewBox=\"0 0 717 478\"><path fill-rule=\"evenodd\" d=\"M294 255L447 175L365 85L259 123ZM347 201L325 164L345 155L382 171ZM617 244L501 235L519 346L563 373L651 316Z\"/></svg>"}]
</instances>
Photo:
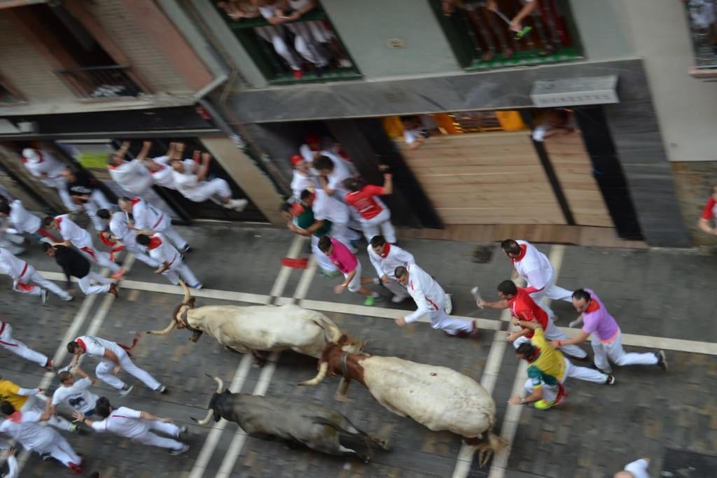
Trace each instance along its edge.
<instances>
[{"instance_id":1,"label":"cream bull with long horns, nearest the doorway crowd","mask_svg":"<svg viewBox=\"0 0 717 478\"><path fill-rule=\"evenodd\" d=\"M220 344L241 353L252 353L263 360L259 351L291 349L318 358L329 343L341 345L348 352L359 352L361 342L350 340L331 319L320 312L298 305L207 305L194 308L194 297L184 289L184 300L174 310L171 322L164 330L148 333L166 335L174 328L189 329L196 342L202 333L212 335Z\"/></svg>"}]
</instances>

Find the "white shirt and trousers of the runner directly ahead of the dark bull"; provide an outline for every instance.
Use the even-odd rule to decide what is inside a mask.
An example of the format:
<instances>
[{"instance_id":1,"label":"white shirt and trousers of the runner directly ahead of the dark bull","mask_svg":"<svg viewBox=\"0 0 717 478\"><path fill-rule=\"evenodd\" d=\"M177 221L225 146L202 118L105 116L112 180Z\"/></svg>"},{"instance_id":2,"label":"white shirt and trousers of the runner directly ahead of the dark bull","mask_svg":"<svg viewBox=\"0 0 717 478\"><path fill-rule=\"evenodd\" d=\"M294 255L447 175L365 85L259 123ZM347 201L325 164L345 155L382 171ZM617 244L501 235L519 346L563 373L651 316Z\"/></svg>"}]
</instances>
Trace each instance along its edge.
<instances>
[{"instance_id":1,"label":"white shirt and trousers of the runner directly ahead of the dark bull","mask_svg":"<svg viewBox=\"0 0 717 478\"><path fill-rule=\"evenodd\" d=\"M92 429L95 431L110 431L115 435L124 436L145 445L159 446L175 451L184 449L183 443L151 432L151 430L157 430L163 434L179 438L181 431L179 426L161 420L144 420L141 416L142 412L139 410L120 406L117 410L113 410L110 416L103 421L92 423Z\"/></svg>"}]
</instances>

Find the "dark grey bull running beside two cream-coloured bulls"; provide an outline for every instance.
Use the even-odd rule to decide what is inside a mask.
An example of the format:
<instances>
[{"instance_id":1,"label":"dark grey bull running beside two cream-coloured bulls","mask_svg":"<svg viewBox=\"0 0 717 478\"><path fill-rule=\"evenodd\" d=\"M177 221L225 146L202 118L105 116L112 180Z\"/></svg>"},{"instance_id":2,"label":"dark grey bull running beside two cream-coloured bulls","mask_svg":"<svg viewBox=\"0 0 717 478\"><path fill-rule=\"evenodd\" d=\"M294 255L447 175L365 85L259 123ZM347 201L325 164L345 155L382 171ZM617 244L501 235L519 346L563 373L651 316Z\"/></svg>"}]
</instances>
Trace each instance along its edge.
<instances>
[{"instance_id":1,"label":"dark grey bull running beside two cream-coloured bulls","mask_svg":"<svg viewBox=\"0 0 717 478\"><path fill-rule=\"evenodd\" d=\"M371 459L372 445L389 449L387 441L357 429L345 416L331 408L229 390L222 392L222 379L208 373L206 376L217 381L217 391L209 401L206 417L202 420L192 418L200 425L209 424L212 418L214 421L233 421L254 438L278 438L290 445L303 444L322 453L359 457L364 462Z\"/></svg>"}]
</instances>

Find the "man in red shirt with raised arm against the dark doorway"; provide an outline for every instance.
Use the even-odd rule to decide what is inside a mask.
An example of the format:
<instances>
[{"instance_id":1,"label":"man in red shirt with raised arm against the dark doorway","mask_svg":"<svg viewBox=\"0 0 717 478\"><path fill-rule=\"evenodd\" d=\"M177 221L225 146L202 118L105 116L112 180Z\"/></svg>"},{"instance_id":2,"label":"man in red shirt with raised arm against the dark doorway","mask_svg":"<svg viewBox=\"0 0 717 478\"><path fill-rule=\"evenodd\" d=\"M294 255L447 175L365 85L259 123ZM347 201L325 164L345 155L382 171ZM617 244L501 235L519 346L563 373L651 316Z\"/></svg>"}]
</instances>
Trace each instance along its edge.
<instances>
[{"instance_id":1,"label":"man in red shirt with raised arm against the dark doorway","mask_svg":"<svg viewBox=\"0 0 717 478\"><path fill-rule=\"evenodd\" d=\"M361 178L346 178L343 187L348 189L346 204L359 212L361 229L366 241L381 234L390 244L396 244L396 229L391 224L391 211L378 196L386 196L394 191L391 174L384 173L384 186L366 184Z\"/></svg>"}]
</instances>

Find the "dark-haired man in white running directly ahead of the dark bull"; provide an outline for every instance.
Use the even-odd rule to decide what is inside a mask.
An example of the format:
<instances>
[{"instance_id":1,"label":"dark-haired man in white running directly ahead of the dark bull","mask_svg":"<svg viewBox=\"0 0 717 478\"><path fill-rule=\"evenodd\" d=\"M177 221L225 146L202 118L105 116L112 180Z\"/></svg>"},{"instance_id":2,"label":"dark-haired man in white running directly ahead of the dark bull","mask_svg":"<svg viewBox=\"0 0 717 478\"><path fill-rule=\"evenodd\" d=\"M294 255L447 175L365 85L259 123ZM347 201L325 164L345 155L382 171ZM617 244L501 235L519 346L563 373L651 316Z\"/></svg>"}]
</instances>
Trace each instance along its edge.
<instances>
[{"instance_id":1,"label":"dark-haired man in white running directly ahead of the dark bull","mask_svg":"<svg viewBox=\"0 0 717 478\"><path fill-rule=\"evenodd\" d=\"M100 397L96 409L98 415L103 417L103 421L87 419L85 414L79 411L75 411L72 416L75 417L75 421L92 427L94 431L110 431L115 435L124 436L141 444L168 448L170 454L173 455L181 455L189 451L189 445L151 432L151 430L157 430L174 438L181 438L188 431L187 427L176 426L171 423L171 419L163 419L148 411L133 410L126 406L120 406L115 410L105 397Z\"/></svg>"}]
</instances>

